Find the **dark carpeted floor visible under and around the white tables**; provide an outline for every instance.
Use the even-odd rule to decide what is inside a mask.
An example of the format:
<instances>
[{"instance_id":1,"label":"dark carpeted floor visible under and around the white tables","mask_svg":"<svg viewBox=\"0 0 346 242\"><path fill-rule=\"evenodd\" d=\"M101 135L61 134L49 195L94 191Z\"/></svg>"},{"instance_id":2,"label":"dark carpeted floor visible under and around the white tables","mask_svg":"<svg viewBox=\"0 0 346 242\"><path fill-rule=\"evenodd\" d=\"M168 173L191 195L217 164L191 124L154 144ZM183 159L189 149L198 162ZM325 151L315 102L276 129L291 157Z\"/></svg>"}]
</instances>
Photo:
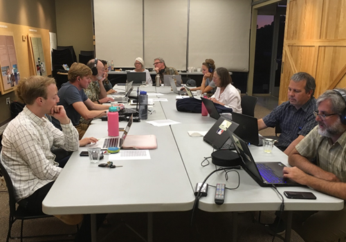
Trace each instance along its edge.
<instances>
[{"instance_id":1,"label":"dark carpeted floor visible under and around the white tables","mask_svg":"<svg viewBox=\"0 0 346 242\"><path fill-rule=\"evenodd\" d=\"M255 117L262 118L268 114L277 104L273 97L259 97L255 108ZM266 106L270 106L268 109ZM266 129L260 132L264 136L275 135L274 129ZM1 190L1 187L0 187ZM230 241L232 237L232 223L230 213L208 213L198 210L194 216L194 225L190 226L191 211L188 212L158 212L154 213L154 241L156 242L203 242L203 241ZM8 232L8 194L0 192L0 242L6 241ZM263 225L255 222L258 212L243 212L238 215L238 240L246 242L272 241ZM274 212L262 212L261 222L272 223L275 218ZM143 241L125 224L134 228L141 236L147 236L147 214L109 214L109 225L101 227L98 231L99 242L140 242ZM20 231L20 222L17 221L12 228L14 235ZM68 234L75 232L75 226L65 225L57 218L42 218L24 223L24 235L35 234ZM70 237L73 238L73 237ZM54 239L51 236L44 239ZM44 239L26 239L24 241L44 241ZM69 237L61 236L62 239ZM13 240L12 240L13 241ZM275 238L274 241L281 241ZM302 242L298 234L292 232L291 241Z\"/></svg>"}]
</instances>

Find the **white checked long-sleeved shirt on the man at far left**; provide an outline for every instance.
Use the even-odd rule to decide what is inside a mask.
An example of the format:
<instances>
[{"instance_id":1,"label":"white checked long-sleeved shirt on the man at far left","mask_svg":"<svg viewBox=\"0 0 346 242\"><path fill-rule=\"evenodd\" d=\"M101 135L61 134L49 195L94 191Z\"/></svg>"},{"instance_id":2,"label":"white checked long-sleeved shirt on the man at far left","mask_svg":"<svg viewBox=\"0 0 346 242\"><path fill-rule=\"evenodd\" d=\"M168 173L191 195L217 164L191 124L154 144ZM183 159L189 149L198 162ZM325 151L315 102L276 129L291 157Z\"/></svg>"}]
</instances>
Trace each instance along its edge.
<instances>
[{"instance_id":1,"label":"white checked long-sleeved shirt on the man at far left","mask_svg":"<svg viewBox=\"0 0 346 242\"><path fill-rule=\"evenodd\" d=\"M16 201L27 198L59 176L62 168L54 161L53 145L67 151L78 149L78 131L72 122L61 126L62 131L25 106L3 131L1 162L15 187Z\"/></svg>"}]
</instances>

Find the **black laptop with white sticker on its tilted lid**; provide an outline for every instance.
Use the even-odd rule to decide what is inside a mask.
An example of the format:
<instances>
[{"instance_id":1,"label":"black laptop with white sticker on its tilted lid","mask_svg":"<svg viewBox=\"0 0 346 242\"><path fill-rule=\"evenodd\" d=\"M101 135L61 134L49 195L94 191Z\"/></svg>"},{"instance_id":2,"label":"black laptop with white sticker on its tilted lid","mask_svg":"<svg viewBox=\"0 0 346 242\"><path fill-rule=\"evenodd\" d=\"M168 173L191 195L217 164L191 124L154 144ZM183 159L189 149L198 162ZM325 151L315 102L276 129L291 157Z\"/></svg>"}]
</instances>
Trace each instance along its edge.
<instances>
[{"instance_id":1,"label":"black laptop with white sticker on its tilted lid","mask_svg":"<svg viewBox=\"0 0 346 242\"><path fill-rule=\"evenodd\" d=\"M239 124L221 116L215 124L209 129L203 140L211 145L214 149L230 149L233 147L232 140L226 129L235 131ZM234 147L233 147L234 149Z\"/></svg>"}]
</instances>

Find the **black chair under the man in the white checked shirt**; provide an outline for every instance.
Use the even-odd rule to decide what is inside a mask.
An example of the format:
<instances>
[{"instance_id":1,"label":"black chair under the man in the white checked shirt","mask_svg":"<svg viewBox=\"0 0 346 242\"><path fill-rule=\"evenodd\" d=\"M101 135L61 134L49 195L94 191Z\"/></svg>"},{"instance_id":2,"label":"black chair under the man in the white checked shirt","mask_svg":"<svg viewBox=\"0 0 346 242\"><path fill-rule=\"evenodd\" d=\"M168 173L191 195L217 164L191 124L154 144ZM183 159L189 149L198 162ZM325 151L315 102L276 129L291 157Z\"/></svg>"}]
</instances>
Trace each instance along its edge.
<instances>
[{"instance_id":1,"label":"black chair under the man in the white checked shirt","mask_svg":"<svg viewBox=\"0 0 346 242\"><path fill-rule=\"evenodd\" d=\"M48 214L39 214L39 215L29 215L26 210L23 209L20 205L16 209L16 202L15 202L15 189L13 187L12 180L10 176L8 175L8 172L6 171L5 167L3 167L0 159L0 170L1 174L3 175L3 178L5 178L6 181L6 186L8 188L8 204L10 205L10 218L8 220L8 234L7 234L7 239L6 242L9 241L9 239L21 239L21 242L23 241L23 238L38 238L38 237L48 237L48 236L71 236L71 234L44 234L44 235L38 235L38 236L23 236L23 227L24 227L24 220L29 220L29 219L35 219L35 218L48 218L52 217L52 215ZM11 230L12 230L12 225L15 223L15 221L21 220L21 234L20 237L12 237L11 236ZM66 239L65 241L71 241L73 238ZM50 240L51 241L51 240ZM59 240L61 241L61 237Z\"/></svg>"}]
</instances>

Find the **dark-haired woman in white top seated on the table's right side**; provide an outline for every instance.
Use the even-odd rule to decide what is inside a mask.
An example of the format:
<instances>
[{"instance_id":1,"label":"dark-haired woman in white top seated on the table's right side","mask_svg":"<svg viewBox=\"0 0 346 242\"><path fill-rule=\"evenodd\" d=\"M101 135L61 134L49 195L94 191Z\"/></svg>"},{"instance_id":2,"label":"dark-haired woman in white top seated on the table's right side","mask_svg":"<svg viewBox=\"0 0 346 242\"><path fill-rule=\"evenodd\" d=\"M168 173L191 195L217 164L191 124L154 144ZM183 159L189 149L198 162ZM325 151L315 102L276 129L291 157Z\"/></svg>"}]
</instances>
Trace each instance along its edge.
<instances>
[{"instance_id":1,"label":"dark-haired woman in white top seated on the table's right side","mask_svg":"<svg viewBox=\"0 0 346 242\"><path fill-rule=\"evenodd\" d=\"M224 67L215 70L212 80L217 86L217 91L210 97L212 102L224 105L233 109L235 113L242 113L241 98L239 91L231 84L230 73Z\"/></svg>"}]
</instances>

